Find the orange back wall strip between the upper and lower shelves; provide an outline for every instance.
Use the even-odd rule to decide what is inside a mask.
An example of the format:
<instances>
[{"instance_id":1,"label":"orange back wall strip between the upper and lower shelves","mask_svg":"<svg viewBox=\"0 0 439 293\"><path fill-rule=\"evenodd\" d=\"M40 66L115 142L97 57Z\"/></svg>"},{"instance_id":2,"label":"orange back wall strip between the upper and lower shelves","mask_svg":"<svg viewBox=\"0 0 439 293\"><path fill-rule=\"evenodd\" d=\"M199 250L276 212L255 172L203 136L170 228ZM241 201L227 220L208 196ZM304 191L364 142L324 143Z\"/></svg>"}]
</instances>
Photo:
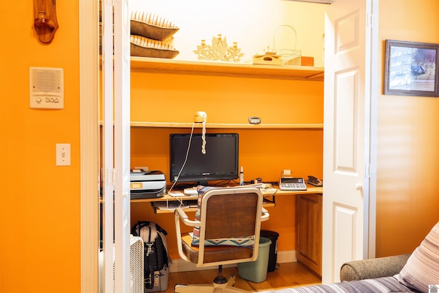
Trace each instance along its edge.
<instances>
[{"instance_id":1,"label":"orange back wall strip between the upper and lower shelves","mask_svg":"<svg viewBox=\"0 0 439 293\"><path fill-rule=\"evenodd\" d=\"M323 82L198 75L131 74L132 121L323 123Z\"/></svg>"}]
</instances>

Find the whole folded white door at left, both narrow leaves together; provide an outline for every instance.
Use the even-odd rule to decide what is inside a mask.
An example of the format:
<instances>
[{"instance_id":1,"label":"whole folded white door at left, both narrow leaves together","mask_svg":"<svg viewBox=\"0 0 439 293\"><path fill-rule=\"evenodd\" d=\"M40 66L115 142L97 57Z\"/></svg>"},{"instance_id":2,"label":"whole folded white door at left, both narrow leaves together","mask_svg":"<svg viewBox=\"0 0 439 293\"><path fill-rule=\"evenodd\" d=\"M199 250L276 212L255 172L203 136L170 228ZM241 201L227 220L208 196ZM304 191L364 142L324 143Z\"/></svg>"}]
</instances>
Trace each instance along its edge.
<instances>
[{"instance_id":1,"label":"whole folded white door at left, both narrow leaves together","mask_svg":"<svg viewBox=\"0 0 439 293\"><path fill-rule=\"evenodd\" d=\"M104 176L103 185L104 282L101 285L104 285L102 289L106 293L130 292L130 21L128 0L102 1L102 11L104 15L102 165L106 176Z\"/></svg>"}]
</instances>

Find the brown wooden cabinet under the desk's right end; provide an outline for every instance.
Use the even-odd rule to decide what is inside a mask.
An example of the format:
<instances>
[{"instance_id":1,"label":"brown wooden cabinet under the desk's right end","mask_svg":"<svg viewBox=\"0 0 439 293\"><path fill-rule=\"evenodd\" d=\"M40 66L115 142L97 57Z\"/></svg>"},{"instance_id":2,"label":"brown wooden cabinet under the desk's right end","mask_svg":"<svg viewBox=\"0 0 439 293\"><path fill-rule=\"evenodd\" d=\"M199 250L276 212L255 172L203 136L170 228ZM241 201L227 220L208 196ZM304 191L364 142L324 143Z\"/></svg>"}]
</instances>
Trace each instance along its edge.
<instances>
[{"instance_id":1,"label":"brown wooden cabinet under the desk's right end","mask_svg":"<svg viewBox=\"0 0 439 293\"><path fill-rule=\"evenodd\" d=\"M296 197L297 261L322 275L322 195Z\"/></svg>"}]
</instances>

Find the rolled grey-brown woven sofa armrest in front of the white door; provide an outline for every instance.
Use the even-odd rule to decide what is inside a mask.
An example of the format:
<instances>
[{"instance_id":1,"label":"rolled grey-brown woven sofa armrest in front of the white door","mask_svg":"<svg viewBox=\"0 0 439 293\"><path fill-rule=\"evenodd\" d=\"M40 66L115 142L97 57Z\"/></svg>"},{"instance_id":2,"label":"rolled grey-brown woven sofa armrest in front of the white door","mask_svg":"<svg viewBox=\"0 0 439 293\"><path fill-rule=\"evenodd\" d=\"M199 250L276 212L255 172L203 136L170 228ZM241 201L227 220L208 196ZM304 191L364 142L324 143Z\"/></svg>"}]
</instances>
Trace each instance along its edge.
<instances>
[{"instance_id":1,"label":"rolled grey-brown woven sofa armrest in front of the white door","mask_svg":"<svg viewBox=\"0 0 439 293\"><path fill-rule=\"evenodd\" d=\"M340 280L353 281L390 277L401 272L409 257L410 254L348 261L340 269Z\"/></svg>"}]
</instances>

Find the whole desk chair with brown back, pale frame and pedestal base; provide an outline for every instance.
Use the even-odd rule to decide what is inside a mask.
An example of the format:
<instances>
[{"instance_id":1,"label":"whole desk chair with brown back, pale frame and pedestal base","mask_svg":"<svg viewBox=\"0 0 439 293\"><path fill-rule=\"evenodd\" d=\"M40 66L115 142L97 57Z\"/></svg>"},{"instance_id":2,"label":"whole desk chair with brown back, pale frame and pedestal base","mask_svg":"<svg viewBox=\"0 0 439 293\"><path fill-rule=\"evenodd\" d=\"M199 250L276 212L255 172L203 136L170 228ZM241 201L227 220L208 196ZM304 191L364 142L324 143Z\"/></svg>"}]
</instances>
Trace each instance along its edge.
<instances>
[{"instance_id":1,"label":"whole desk chair with brown back, pale frame and pedestal base","mask_svg":"<svg viewBox=\"0 0 439 293\"><path fill-rule=\"evenodd\" d=\"M176 209L175 222L178 253L182 259L195 263L198 268L218 266L218 276L212 284L176 285L175 292L246 292L233 287L235 276L222 276L222 266L229 263L255 261L258 256L261 222L270 215L262 208L263 196L255 187L224 187L204 192L200 220L189 220L183 209ZM180 222L200 227L199 246L192 246L192 237L182 235ZM206 246L206 239L233 239L253 236L249 246Z\"/></svg>"}]
</instances>

